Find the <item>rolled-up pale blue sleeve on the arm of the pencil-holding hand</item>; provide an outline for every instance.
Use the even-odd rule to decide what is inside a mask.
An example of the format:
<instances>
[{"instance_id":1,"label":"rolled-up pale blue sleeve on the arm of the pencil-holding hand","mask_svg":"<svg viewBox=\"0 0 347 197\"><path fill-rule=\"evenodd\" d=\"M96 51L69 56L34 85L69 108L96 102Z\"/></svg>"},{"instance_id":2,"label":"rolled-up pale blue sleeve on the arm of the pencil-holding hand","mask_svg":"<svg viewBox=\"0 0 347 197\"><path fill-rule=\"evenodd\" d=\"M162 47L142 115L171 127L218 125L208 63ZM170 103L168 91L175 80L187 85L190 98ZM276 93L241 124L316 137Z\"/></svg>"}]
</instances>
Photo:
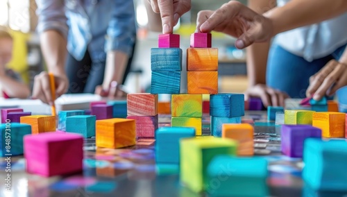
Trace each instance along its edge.
<instances>
[{"instance_id":1,"label":"rolled-up pale blue sleeve on the arm of the pencil-holding hand","mask_svg":"<svg viewBox=\"0 0 347 197\"><path fill-rule=\"evenodd\" d=\"M37 31L56 30L67 37L67 17L64 0L36 0L38 16Z\"/></svg>"}]
</instances>

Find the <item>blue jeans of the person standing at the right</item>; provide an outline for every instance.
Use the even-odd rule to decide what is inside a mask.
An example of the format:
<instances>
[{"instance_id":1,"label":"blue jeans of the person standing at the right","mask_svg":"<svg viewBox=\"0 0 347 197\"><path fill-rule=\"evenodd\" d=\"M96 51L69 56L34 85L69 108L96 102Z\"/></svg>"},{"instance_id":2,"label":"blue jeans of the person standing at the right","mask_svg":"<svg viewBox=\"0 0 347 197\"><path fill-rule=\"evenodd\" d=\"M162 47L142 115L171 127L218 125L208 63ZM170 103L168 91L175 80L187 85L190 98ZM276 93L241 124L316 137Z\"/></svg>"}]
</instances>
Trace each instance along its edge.
<instances>
[{"instance_id":1,"label":"blue jeans of the person standing at the right","mask_svg":"<svg viewBox=\"0 0 347 197\"><path fill-rule=\"evenodd\" d=\"M287 92L293 99L303 99L306 97L306 89L310 84L310 76L316 74L330 60L339 60L345 48L346 45L341 46L324 58L307 62L278 44L273 44L267 62L266 85Z\"/></svg>"}]
</instances>

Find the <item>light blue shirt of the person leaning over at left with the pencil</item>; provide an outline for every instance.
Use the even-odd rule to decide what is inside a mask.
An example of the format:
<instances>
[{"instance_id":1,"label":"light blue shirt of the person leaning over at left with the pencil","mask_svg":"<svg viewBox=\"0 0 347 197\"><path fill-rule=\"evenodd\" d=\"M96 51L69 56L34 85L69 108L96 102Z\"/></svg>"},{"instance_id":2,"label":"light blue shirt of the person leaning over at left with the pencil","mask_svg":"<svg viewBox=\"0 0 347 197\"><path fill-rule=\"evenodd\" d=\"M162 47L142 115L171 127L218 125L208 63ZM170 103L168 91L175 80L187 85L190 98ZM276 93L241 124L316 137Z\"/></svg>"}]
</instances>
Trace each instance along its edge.
<instances>
[{"instance_id":1,"label":"light blue shirt of the person leaning over at left with the pencil","mask_svg":"<svg viewBox=\"0 0 347 197\"><path fill-rule=\"evenodd\" d=\"M136 39L135 10L130 0L36 0L37 31L56 30L67 37L67 50L81 60L88 50L92 60L107 51L128 55Z\"/></svg>"}]
</instances>

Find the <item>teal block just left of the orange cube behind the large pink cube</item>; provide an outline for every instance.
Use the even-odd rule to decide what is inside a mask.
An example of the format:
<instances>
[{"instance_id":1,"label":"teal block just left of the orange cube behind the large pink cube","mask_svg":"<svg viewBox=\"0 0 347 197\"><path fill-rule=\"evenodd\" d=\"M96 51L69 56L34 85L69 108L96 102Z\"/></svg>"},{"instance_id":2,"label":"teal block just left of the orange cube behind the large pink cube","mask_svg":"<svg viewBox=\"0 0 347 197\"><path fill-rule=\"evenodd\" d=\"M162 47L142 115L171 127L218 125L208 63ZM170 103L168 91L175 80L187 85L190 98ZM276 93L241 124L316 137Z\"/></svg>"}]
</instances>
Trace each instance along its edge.
<instances>
[{"instance_id":1,"label":"teal block just left of the orange cube behind the large pink cube","mask_svg":"<svg viewBox=\"0 0 347 197\"><path fill-rule=\"evenodd\" d=\"M79 133L85 138L95 136L95 121L96 116L93 115L67 117L66 132Z\"/></svg>"}]
</instances>

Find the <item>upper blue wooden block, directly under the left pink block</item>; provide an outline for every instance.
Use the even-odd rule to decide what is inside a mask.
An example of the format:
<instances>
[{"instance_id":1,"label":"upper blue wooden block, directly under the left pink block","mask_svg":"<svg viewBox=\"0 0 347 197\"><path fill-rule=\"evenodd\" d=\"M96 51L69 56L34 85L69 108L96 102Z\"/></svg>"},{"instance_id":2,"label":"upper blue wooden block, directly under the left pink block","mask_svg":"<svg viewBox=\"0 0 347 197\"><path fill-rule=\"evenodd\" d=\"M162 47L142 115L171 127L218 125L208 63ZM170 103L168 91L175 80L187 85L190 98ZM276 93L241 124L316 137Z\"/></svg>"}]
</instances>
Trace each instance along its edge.
<instances>
[{"instance_id":1,"label":"upper blue wooden block, directly under the left pink block","mask_svg":"<svg viewBox=\"0 0 347 197\"><path fill-rule=\"evenodd\" d=\"M151 49L152 71L182 71L182 49Z\"/></svg>"}]
</instances>

